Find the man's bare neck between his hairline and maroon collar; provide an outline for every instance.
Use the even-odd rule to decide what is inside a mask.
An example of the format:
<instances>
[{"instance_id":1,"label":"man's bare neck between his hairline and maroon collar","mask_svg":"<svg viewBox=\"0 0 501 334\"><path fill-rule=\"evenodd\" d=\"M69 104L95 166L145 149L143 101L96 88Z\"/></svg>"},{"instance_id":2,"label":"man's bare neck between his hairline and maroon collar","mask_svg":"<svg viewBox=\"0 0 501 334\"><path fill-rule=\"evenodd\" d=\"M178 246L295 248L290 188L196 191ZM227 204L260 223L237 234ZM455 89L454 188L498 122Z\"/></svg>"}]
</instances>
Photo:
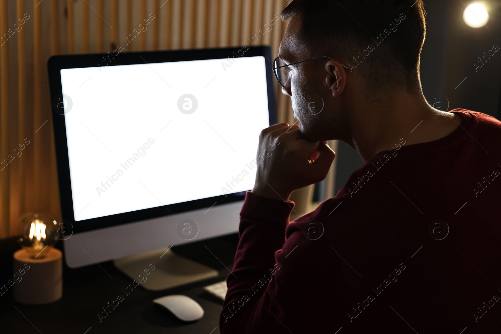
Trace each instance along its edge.
<instances>
[{"instance_id":1,"label":"man's bare neck between his hairline and maroon collar","mask_svg":"<svg viewBox=\"0 0 501 334\"><path fill-rule=\"evenodd\" d=\"M443 138L458 126L460 117L431 107L421 92L400 93L372 105L352 109L348 124L355 150L365 162L375 154L395 149L400 140L405 146Z\"/></svg>"}]
</instances>

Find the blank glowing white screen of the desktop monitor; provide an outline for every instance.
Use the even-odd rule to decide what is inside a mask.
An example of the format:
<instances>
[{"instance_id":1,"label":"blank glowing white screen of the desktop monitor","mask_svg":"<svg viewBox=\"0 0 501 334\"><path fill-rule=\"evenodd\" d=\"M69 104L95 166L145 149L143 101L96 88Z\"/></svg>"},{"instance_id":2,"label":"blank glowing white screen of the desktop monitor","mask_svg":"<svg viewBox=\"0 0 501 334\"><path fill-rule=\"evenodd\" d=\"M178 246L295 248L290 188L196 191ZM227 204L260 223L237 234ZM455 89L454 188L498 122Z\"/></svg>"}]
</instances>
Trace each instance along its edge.
<instances>
[{"instance_id":1,"label":"blank glowing white screen of the desktop monitor","mask_svg":"<svg viewBox=\"0 0 501 334\"><path fill-rule=\"evenodd\" d=\"M228 65L61 70L76 221L252 189L270 125L265 58ZM185 94L192 114L178 109Z\"/></svg>"}]
</instances>

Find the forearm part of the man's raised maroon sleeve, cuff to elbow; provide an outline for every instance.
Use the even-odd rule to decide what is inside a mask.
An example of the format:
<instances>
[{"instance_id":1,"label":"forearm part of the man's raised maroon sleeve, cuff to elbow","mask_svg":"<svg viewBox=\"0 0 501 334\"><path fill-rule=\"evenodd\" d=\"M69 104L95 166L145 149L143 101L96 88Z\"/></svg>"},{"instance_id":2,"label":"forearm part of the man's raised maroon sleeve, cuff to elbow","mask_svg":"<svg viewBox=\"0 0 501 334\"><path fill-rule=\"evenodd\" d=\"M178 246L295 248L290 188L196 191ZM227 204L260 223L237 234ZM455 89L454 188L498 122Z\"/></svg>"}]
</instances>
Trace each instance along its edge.
<instances>
[{"instance_id":1,"label":"forearm part of the man's raised maroon sleeve, cuff to elbow","mask_svg":"<svg viewBox=\"0 0 501 334\"><path fill-rule=\"evenodd\" d=\"M247 191L240 211L233 269L226 278L228 291L220 316L221 332L236 332L243 308L249 302L244 299L259 298L267 283L273 279L278 265L275 252L285 242L285 229L294 208L292 201L279 201Z\"/></svg>"}]
</instances>

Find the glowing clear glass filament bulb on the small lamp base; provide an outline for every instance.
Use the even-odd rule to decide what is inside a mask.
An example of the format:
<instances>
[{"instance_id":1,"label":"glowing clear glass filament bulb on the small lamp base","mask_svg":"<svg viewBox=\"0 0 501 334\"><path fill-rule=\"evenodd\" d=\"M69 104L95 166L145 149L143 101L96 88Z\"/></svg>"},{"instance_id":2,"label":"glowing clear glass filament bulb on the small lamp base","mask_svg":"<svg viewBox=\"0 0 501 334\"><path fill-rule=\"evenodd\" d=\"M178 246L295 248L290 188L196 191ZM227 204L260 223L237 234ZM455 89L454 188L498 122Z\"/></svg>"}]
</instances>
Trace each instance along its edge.
<instances>
[{"instance_id":1,"label":"glowing clear glass filament bulb on the small lamp base","mask_svg":"<svg viewBox=\"0 0 501 334\"><path fill-rule=\"evenodd\" d=\"M57 221L43 213L28 212L19 221L18 242L32 258L44 258L59 238Z\"/></svg>"}]
</instances>

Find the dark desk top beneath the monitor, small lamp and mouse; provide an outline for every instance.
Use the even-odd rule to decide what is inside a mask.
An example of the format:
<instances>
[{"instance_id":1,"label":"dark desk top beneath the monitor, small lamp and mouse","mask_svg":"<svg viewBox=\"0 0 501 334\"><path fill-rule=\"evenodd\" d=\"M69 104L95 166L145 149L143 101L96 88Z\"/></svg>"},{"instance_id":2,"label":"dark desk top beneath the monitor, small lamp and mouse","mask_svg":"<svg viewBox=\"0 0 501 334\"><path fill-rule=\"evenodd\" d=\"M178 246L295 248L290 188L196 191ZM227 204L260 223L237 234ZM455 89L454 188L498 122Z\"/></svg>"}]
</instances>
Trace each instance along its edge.
<instances>
[{"instance_id":1,"label":"dark desk top beneath the monitor, small lamp and mouse","mask_svg":"<svg viewBox=\"0 0 501 334\"><path fill-rule=\"evenodd\" d=\"M78 269L65 264L63 297L54 303L20 304L14 300L12 288L5 295L0 294L0 333L219 333L222 300L202 288L226 278L237 243L238 235L232 234L172 247L179 255L219 270L219 277L158 292L138 287L124 296L125 299L101 322L98 313L104 314L102 307L117 295L124 295L122 288L126 288L131 280L111 261L100 263L101 267L95 264ZM12 254L17 249L19 246L14 238L0 240L0 285L12 277ZM154 298L169 294L185 294L196 300L205 311L203 318L183 322L152 302Z\"/></svg>"}]
</instances>

